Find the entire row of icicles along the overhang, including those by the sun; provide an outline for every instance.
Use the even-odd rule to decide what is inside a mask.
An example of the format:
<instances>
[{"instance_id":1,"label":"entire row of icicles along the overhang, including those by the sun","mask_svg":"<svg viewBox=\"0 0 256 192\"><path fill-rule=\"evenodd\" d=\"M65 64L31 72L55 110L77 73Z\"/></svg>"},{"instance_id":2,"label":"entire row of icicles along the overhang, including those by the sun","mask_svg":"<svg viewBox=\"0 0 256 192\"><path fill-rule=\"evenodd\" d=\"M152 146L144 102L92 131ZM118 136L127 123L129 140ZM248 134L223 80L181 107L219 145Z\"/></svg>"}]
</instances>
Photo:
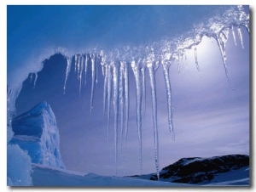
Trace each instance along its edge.
<instances>
[{"instance_id":1,"label":"entire row of icicles along the overhang, including those by the sun","mask_svg":"<svg viewBox=\"0 0 256 192\"><path fill-rule=\"evenodd\" d=\"M241 47L244 48L243 39L241 35L240 25L235 26L237 29L238 37L241 41ZM246 27L247 28L247 27ZM230 77L226 65L226 54L225 47L226 42L229 37L229 32L232 32L235 44L236 34L234 25L230 27L223 28L218 32L218 35L209 36L213 37L216 42L218 42L218 48L222 55L224 63L224 71L228 81L230 82ZM248 29L247 29L248 31ZM203 36L201 36L202 38ZM152 114L153 114L153 127L154 127L154 161L156 167L157 178L160 178L159 172L159 136L158 136L158 121L157 121L157 99L156 99L156 86L155 86L155 72L157 71L159 65L162 65L163 75L166 84L166 98L167 98L167 111L168 111L168 128L172 135L172 140L175 139L173 122L172 122L172 88L171 80L169 76L169 68L174 61L177 63L177 71L180 72L179 65L183 63L183 58L186 59L186 50L193 48L195 50L195 66L198 72L200 72L199 62L197 59L197 49L196 45L201 42L197 40L196 42L189 44L189 46L178 48L176 52L171 52L170 48L162 48L158 50L160 55L154 54L154 48L146 48L149 50L148 55L144 58L131 57L129 59L119 59L118 57L109 57L103 51L90 54L75 54L74 57L74 68L77 72L79 80L79 94L81 93L82 85L86 85L86 76L88 73L88 67L91 67L91 93L90 93L90 112L93 110L93 99L94 99L94 89L98 82L99 68L102 68L102 76L104 76L104 89L103 89L103 112L104 116L107 118L107 129L108 129L108 140L109 140L109 124L110 124L110 109L113 109L114 114L114 146L115 146L115 163L116 172L118 167L118 134L120 132L121 140L120 145L122 149L123 140L126 144L127 133L128 133L128 122L129 122L129 65L133 71L133 75L136 82L136 115L137 115L137 135L139 142L139 161L140 169L143 172L143 157L142 157L142 113L145 109L145 71L148 70L150 89L151 89L151 103L152 103ZM183 43L186 44L186 43ZM166 51L169 50L169 51ZM112 54L113 55L113 54ZM67 56L66 56L67 57ZM73 57L67 57L67 71L66 78L64 82L64 94L66 91L66 84L69 72L71 71L71 65ZM113 59L114 58L114 59ZM34 88L36 86L38 75L35 73L34 76ZM32 75L31 75L32 80ZM113 108L111 108L111 103ZM144 109L143 109L144 106ZM120 130L119 130L120 129Z\"/></svg>"}]
</instances>

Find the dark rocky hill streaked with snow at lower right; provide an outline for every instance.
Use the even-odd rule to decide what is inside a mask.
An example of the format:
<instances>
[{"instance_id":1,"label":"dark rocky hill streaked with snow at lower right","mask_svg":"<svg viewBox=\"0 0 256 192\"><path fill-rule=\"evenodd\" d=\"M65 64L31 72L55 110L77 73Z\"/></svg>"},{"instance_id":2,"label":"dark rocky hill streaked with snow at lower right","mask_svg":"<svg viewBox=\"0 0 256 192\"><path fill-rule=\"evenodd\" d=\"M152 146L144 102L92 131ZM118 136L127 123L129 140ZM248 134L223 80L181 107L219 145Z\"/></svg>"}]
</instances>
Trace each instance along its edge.
<instances>
[{"instance_id":1,"label":"dark rocky hill streaked with snow at lower right","mask_svg":"<svg viewBox=\"0 0 256 192\"><path fill-rule=\"evenodd\" d=\"M218 173L230 172L248 166L248 155L182 158L172 165L164 167L160 171L160 180L183 184L207 184ZM150 180L157 180L156 174L150 174L150 176Z\"/></svg>"}]
</instances>

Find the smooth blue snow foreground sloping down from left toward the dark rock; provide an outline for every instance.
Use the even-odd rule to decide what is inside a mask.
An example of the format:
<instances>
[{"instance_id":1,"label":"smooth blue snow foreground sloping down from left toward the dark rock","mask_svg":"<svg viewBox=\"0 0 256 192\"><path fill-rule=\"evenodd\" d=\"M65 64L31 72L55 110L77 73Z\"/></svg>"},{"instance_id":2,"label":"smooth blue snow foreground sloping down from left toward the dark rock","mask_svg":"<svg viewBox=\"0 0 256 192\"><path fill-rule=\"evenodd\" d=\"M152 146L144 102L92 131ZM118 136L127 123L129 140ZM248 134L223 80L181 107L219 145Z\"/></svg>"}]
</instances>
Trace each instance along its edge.
<instances>
[{"instance_id":1,"label":"smooth blue snow foreground sloping down from left toward the dark rock","mask_svg":"<svg viewBox=\"0 0 256 192\"><path fill-rule=\"evenodd\" d=\"M74 187L189 187L188 184L150 181L140 178L107 177L94 173L73 172L38 164L32 165L33 186Z\"/></svg>"}]
</instances>

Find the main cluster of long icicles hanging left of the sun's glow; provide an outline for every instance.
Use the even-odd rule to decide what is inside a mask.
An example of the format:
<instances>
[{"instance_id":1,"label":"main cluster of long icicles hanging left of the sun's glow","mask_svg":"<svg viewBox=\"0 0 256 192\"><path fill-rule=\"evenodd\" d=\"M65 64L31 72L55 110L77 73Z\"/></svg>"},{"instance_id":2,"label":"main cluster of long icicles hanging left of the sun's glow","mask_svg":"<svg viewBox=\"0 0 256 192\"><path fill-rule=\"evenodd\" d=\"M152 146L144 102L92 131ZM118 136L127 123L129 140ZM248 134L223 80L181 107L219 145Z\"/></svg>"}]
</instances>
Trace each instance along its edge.
<instances>
[{"instance_id":1,"label":"main cluster of long icicles hanging left of the sun's glow","mask_svg":"<svg viewBox=\"0 0 256 192\"><path fill-rule=\"evenodd\" d=\"M67 77L71 70L72 59L67 59L67 73L64 83L64 93L66 89ZM103 88L103 112L107 118L108 140L109 140L109 124L110 124L110 109L113 109L113 130L114 130L114 146L115 146L115 162L118 167L118 138L121 135L120 145L122 149L123 140L126 144L129 122L129 65L133 71L136 82L136 114L137 114L137 134L139 141L139 161L140 169L143 172L143 158L142 158L142 113L143 106L145 107L145 71L148 70L150 88L151 88L151 102L153 111L154 124L154 156L157 172L159 172L159 155L158 155L158 127L157 127L157 102L156 102L156 86L155 86L155 71L159 65L163 65L164 76L166 82L166 95L168 103L168 123L169 130L172 133L174 140L174 131L172 125L172 88L169 77L169 67L172 62L169 60L158 61L154 59L154 55L149 55L148 59L133 59L131 62L124 60L112 60L106 62L102 52L101 54L76 54L74 55L74 69L77 72L79 80L79 94L83 83L86 84L86 75L88 65L91 65L91 95L90 95L90 112L93 110L94 89L98 80L99 65L102 67L102 75L104 76ZM113 104L113 108L111 107ZM117 171L117 170L116 170Z\"/></svg>"}]
</instances>

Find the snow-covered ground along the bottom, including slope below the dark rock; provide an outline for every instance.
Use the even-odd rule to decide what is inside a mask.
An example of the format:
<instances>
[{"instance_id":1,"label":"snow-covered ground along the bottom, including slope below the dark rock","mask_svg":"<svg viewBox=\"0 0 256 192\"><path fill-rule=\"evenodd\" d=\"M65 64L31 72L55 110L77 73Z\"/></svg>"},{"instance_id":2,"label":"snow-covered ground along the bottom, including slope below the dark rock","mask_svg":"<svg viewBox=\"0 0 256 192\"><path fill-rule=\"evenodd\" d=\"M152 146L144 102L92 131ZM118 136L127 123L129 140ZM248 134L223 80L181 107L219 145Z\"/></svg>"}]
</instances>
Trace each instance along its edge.
<instances>
[{"instance_id":1,"label":"snow-covered ground along the bottom, including slope below the dark rock","mask_svg":"<svg viewBox=\"0 0 256 192\"><path fill-rule=\"evenodd\" d=\"M194 188L199 186L249 186L248 167L233 172L218 174L211 184L175 184L163 181L151 181L142 178L108 177L94 173L73 172L64 169L32 164L33 186L62 186L62 187L182 187Z\"/></svg>"}]
</instances>

